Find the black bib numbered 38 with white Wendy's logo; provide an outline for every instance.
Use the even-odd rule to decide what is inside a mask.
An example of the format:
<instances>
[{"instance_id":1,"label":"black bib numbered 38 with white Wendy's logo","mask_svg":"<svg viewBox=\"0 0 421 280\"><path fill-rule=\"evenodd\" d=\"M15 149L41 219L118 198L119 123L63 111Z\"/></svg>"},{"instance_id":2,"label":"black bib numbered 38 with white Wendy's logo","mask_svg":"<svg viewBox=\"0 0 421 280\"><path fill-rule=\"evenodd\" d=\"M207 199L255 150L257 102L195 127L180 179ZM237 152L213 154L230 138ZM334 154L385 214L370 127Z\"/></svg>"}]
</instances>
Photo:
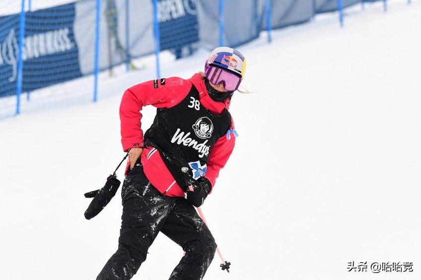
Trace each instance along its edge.
<instances>
[{"instance_id":1,"label":"black bib numbered 38 with white Wendy's logo","mask_svg":"<svg viewBox=\"0 0 421 280\"><path fill-rule=\"evenodd\" d=\"M204 176L210 149L231 127L227 110L213 114L199 102L199 92L192 85L189 94L172 108L158 108L152 126L144 135L145 145L161 153L178 185L186 188L181 168L197 179Z\"/></svg>"}]
</instances>

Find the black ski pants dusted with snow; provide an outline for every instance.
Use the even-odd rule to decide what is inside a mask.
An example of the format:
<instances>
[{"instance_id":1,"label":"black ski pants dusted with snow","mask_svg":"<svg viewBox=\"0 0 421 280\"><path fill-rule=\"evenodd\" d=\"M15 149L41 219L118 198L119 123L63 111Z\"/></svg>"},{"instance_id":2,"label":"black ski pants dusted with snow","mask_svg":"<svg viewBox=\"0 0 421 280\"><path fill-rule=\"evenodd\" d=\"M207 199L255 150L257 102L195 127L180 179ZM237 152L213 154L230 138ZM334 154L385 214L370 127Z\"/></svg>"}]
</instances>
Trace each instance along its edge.
<instances>
[{"instance_id":1,"label":"black ski pants dusted with snow","mask_svg":"<svg viewBox=\"0 0 421 280\"><path fill-rule=\"evenodd\" d=\"M123 215L118 250L97 280L128 280L146 259L149 246L161 231L186 252L170 280L203 279L216 250L208 227L193 206L181 197L166 197L135 166L122 187Z\"/></svg>"}]
</instances>

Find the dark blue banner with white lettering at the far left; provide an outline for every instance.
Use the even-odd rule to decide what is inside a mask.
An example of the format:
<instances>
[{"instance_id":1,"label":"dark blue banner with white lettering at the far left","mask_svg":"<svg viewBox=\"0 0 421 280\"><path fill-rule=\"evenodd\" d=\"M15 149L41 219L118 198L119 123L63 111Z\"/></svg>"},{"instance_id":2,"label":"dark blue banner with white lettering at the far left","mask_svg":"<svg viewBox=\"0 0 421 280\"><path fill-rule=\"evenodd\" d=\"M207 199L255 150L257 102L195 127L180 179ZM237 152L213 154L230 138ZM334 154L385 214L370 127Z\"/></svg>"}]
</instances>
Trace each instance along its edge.
<instances>
[{"instance_id":1,"label":"dark blue banner with white lettering at the far left","mask_svg":"<svg viewBox=\"0 0 421 280\"><path fill-rule=\"evenodd\" d=\"M16 93L19 14L0 17L0 97ZM80 77L74 3L27 12L22 91Z\"/></svg>"}]
</instances>

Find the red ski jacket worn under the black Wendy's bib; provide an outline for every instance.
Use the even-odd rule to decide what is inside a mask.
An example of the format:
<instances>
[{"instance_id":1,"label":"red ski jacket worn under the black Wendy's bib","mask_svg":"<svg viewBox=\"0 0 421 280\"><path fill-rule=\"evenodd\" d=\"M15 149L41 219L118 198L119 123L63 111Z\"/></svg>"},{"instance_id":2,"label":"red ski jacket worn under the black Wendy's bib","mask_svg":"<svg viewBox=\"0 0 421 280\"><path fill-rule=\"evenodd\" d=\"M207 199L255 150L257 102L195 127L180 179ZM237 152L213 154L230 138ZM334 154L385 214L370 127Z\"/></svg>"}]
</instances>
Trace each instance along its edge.
<instances>
[{"instance_id":1,"label":"red ski jacket worn under the black Wendy's bib","mask_svg":"<svg viewBox=\"0 0 421 280\"><path fill-rule=\"evenodd\" d=\"M192 86L199 91L200 104L213 114L220 114L229 108L230 100L224 103L213 101L206 89L205 81L200 73L189 79L170 77L166 79L150 80L127 89L120 104L121 142L127 152L132 147L143 147L141 163L143 171L156 189L170 197L184 197L182 189L175 182L168 168L165 166L159 152L153 147L144 147L143 131L141 127L143 106L152 105L156 108L171 108L179 104ZM231 119L231 130L234 124ZM219 170L224 167L234 148L235 137L221 137L210 149L210 158L207 162L205 177L210 181L212 188L218 177ZM127 163L126 175L130 168Z\"/></svg>"}]
</instances>

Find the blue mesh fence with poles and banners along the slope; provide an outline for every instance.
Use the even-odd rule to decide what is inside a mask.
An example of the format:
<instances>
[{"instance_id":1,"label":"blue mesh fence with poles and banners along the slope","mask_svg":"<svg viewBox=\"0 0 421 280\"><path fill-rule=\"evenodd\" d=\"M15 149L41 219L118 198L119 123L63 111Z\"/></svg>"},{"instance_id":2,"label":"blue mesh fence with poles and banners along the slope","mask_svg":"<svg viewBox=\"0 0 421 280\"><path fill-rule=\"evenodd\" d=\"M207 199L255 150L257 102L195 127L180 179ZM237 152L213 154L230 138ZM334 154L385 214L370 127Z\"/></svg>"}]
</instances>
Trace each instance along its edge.
<instances>
[{"instance_id":1,"label":"blue mesh fence with poles and banners along the slope","mask_svg":"<svg viewBox=\"0 0 421 280\"><path fill-rule=\"evenodd\" d=\"M0 14L0 119L20 113L24 93L28 104L41 94L48 100L53 92L58 99L96 101L98 75L121 64L134 69L133 58L155 54L159 77L160 51L181 58L198 47L236 47L263 30L270 41L273 28L324 12L339 11L343 26L344 8L373 1L80 0L54 7L43 7L47 0L11 1L18 8L0 0L0 12L6 13ZM93 81L87 78L65 92L57 86L84 77Z\"/></svg>"}]
</instances>

